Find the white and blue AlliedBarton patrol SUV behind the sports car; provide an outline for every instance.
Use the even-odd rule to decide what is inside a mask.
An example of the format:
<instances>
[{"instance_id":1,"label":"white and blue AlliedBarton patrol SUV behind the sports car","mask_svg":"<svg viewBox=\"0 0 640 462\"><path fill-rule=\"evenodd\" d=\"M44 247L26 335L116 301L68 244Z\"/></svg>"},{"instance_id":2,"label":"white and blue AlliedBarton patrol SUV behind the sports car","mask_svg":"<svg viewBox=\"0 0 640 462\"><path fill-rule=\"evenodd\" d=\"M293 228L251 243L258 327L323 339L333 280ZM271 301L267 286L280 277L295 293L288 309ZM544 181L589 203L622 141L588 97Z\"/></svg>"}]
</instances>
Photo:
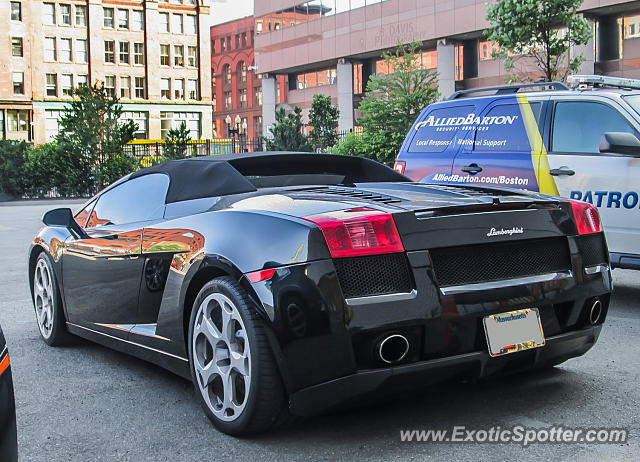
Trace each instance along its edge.
<instances>
[{"instance_id":1,"label":"white and blue AlliedBarton patrol SUV behind the sports car","mask_svg":"<svg viewBox=\"0 0 640 462\"><path fill-rule=\"evenodd\" d=\"M568 82L458 91L421 113L395 168L414 181L589 202L613 267L640 269L640 80Z\"/></svg>"}]
</instances>

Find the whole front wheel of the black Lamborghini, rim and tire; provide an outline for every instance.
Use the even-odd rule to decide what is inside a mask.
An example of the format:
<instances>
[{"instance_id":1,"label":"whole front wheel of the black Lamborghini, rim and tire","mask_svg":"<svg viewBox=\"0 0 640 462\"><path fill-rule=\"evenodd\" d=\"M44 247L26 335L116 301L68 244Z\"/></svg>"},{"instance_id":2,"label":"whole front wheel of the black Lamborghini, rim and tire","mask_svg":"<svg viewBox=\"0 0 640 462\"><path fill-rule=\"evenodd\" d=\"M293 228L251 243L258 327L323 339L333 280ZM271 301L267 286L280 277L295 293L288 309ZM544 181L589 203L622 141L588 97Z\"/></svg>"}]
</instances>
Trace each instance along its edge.
<instances>
[{"instance_id":1,"label":"whole front wheel of the black Lamborghini, rim and tire","mask_svg":"<svg viewBox=\"0 0 640 462\"><path fill-rule=\"evenodd\" d=\"M62 298L51 259L41 252L33 274L33 305L42 339L51 346L59 346L71 340L65 325Z\"/></svg>"}]
</instances>

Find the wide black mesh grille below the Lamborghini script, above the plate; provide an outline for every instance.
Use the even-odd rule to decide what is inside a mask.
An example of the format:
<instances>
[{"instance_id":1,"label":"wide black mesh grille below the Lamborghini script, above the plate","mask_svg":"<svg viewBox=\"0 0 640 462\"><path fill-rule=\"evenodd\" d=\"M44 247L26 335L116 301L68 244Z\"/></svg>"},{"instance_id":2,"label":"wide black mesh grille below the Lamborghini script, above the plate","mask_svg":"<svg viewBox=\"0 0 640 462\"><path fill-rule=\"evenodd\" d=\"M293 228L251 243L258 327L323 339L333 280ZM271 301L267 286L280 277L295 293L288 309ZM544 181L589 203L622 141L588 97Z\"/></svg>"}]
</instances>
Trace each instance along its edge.
<instances>
[{"instance_id":1,"label":"wide black mesh grille below the Lamborghini script, above the plate","mask_svg":"<svg viewBox=\"0 0 640 462\"><path fill-rule=\"evenodd\" d=\"M497 281L571 268L565 238L447 247L429 253L440 286Z\"/></svg>"}]
</instances>

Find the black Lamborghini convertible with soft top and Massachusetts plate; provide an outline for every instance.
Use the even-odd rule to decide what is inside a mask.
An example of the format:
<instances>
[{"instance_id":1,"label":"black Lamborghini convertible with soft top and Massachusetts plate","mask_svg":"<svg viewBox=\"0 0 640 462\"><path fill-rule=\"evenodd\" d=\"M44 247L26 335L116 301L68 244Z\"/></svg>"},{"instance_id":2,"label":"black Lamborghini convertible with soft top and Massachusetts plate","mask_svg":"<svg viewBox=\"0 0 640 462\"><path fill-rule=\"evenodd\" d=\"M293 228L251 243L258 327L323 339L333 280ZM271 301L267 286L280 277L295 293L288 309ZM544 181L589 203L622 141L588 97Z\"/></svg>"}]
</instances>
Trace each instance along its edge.
<instances>
[{"instance_id":1,"label":"black Lamborghini convertible with soft top and Massachusetts plate","mask_svg":"<svg viewBox=\"0 0 640 462\"><path fill-rule=\"evenodd\" d=\"M189 377L236 435L582 355L612 289L593 206L356 157L170 161L43 221L28 258L44 340Z\"/></svg>"}]
</instances>

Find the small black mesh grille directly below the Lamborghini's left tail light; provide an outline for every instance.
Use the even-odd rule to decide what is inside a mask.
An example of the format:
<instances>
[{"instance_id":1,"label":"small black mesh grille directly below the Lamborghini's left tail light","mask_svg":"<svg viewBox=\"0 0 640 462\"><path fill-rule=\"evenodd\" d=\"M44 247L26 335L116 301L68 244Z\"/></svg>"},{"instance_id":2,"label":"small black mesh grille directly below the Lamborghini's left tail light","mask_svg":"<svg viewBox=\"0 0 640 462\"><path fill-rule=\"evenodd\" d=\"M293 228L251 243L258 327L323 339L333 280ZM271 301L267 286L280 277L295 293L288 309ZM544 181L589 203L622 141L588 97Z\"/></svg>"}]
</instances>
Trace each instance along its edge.
<instances>
[{"instance_id":1,"label":"small black mesh grille directly below the Lamborghini's left tail light","mask_svg":"<svg viewBox=\"0 0 640 462\"><path fill-rule=\"evenodd\" d=\"M404 253L333 260L345 298L411 291L409 262Z\"/></svg>"}]
</instances>

